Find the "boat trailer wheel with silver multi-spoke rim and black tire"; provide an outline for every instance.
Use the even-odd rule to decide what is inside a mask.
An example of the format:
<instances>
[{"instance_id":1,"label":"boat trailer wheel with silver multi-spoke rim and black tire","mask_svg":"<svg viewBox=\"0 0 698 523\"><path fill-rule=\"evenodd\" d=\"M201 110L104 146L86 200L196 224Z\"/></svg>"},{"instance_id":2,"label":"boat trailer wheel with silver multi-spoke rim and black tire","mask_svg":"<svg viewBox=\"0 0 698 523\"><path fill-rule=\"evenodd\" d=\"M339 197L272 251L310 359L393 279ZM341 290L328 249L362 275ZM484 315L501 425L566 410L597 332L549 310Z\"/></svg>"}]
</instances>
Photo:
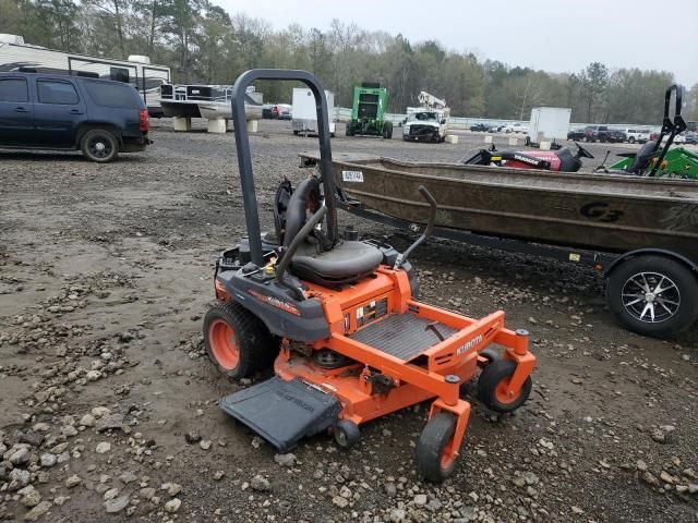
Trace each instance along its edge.
<instances>
[{"instance_id":1,"label":"boat trailer wheel with silver multi-spoke rim and black tire","mask_svg":"<svg viewBox=\"0 0 698 523\"><path fill-rule=\"evenodd\" d=\"M637 256L609 275L606 302L618 321L643 336L664 338L698 319L698 277L665 256Z\"/></svg>"}]
</instances>

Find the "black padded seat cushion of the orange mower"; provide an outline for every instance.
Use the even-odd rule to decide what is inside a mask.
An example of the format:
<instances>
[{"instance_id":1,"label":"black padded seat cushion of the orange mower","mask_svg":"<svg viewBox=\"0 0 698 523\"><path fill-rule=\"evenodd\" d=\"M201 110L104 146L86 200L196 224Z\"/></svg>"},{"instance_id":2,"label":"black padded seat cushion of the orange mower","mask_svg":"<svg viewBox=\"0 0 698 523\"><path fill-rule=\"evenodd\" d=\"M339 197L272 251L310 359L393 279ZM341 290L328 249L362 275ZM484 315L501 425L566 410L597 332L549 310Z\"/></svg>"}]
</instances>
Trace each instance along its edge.
<instances>
[{"instance_id":1,"label":"black padded seat cushion of the orange mower","mask_svg":"<svg viewBox=\"0 0 698 523\"><path fill-rule=\"evenodd\" d=\"M381 251L363 242L342 242L324 253L305 243L291 260L291 272L311 283L344 285L369 276L382 260Z\"/></svg>"}]
</instances>

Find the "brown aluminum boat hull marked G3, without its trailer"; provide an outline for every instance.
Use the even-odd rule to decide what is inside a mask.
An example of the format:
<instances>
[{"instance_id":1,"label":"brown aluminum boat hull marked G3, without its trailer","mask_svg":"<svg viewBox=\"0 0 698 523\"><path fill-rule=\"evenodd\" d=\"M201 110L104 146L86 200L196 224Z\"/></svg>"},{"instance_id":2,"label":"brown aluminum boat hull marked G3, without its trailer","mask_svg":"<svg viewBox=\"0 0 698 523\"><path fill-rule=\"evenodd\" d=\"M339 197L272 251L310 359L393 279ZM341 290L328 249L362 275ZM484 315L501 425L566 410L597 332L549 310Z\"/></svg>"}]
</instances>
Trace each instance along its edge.
<instances>
[{"instance_id":1,"label":"brown aluminum boat hull marked G3, without its trailer","mask_svg":"<svg viewBox=\"0 0 698 523\"><path fill-rule=\"evenodd\" d=\"M425 221L428 204L418 191L424 185L438 202L440 227L607 252L654 247L698 256L698 184L691 181L362 155L336 155L333 174L365 207L408 221Z\"/></svg>"}]
</instances>

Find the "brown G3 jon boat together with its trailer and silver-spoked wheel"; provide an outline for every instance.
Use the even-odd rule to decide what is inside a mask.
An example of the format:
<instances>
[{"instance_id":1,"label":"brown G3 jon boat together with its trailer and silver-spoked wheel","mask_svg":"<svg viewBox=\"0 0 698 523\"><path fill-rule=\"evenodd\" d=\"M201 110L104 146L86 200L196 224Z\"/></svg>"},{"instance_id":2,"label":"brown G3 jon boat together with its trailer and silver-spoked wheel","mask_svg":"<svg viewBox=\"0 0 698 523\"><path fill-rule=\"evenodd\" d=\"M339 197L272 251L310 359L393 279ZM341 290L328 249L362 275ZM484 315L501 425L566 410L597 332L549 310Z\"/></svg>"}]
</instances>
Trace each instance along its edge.
<instances>
[{"instance_id":1,"label":"brown G3 jon boat together with its trailer and silver-spoked wheel","mask_svg":"<svg viewBox=\"0 0 698 523\"><path fill-rule=\"evenodd\" d=\"M316 155L301 154L301 166ZM545 256L600 271L616 319L670 337L698 321L698 183L622 174L558 173L360 154L333 158L339 206L423 231L424 185L436 236Z\"/></svg>"}]
</instances>

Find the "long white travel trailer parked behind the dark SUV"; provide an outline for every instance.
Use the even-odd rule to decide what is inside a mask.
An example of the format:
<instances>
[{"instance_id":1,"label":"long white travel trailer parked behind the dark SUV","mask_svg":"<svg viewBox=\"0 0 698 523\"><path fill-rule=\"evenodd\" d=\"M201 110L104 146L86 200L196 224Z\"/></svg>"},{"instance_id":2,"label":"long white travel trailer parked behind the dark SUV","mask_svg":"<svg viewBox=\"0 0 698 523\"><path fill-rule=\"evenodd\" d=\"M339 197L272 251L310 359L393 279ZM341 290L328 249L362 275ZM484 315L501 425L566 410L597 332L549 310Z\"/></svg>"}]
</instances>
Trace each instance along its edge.
<instances>
[{"instance_id":1,"label":"long white travel trailer parked behind the dark SUV","mask_svg":"<svg viewBox=\"0 0 698 523\"><path fill-rule=\"evenodd\" d=\"M161 117L160 85L170 82L170 68L153 65L147 57L129 60L86 57L24 42L15 35L0 34L0 72L63 73L116 80L133 85L143 97L148 113Z\"/></svg>"}]
</instances>

